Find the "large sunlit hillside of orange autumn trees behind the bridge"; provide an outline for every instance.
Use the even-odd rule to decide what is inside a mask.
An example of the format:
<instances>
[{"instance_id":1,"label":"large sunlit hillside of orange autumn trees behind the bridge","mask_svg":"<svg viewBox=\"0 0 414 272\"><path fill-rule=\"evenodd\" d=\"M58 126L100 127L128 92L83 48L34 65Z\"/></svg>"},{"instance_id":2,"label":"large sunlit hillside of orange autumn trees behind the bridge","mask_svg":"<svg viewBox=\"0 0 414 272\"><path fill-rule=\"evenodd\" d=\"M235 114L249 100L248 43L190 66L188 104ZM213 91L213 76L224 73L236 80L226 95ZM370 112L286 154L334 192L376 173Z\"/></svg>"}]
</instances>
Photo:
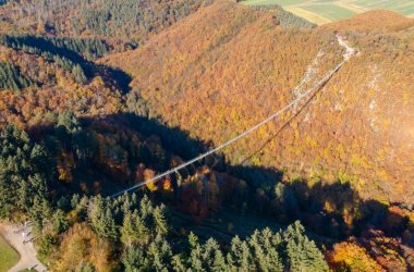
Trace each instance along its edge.
<instances>
[{"instance_id":1,"label":"large sunlit hillside of orange autumn trees behind the bridge","mask_svg":"<svg viewBox=\"0 0 414 272\"><path fill-rule=\"evenodd\" d=\"M133 76L132 110L218 145L333 67L341 55L334 34L342 33L358 55L293 120L284 115L224 154L233 164L282 170L290 180L349 181L366 199L410 203L413 25L378 11L315 29L282 27L271 12L219 2L101 62ZM136 109L134 99L147 109Z\"/></svg>"}]
</instances>

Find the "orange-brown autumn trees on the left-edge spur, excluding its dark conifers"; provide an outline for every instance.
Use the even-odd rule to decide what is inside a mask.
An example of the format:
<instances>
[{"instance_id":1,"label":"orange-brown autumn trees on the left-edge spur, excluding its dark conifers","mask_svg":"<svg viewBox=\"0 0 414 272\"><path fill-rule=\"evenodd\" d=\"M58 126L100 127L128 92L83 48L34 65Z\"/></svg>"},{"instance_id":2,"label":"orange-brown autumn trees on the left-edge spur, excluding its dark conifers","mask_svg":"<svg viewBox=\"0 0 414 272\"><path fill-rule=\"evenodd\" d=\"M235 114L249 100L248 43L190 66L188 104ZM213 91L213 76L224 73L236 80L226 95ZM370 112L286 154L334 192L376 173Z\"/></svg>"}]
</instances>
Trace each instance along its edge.
<instances>
[{"instance_id":1,"label":"orange-brown autumn trees on the left-edge spur, excluding its dark conifers","mask_svg":"<svg viewBox=\"0 0 414 272\"><path fill-rule=\"evenodd\" d=\"M78 116L115 113L121 109L121 95L100 75L87 84L78 83L72 71L40 55L0 47L0 59L19 67L20 76L33 84L19 91L0 89L0 125L27 126L41 123L51 113L75 112Z\"/></svg>"}]
</instances>

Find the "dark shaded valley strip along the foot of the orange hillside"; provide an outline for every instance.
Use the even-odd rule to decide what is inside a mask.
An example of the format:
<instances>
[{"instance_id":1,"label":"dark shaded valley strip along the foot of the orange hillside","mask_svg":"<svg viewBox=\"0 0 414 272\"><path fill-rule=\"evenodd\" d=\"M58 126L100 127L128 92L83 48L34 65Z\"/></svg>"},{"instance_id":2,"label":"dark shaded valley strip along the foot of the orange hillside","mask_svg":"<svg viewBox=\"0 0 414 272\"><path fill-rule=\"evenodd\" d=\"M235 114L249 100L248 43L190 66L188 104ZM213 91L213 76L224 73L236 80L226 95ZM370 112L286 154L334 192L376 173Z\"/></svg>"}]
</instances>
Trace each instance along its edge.
<instances>
[{"instance_id":1,"label":"dark shaded valley strip along the foot of the orange hillside","mask_svg":"<svg viewBox=\"0 0 414 272\"><path fill-rule=\"evenodd\" d=\"M108 115L99 119L83 119L87 125L105 121L127 128L143 136L157 135L162 147L184 161L211 148L211 143L193 139L178 127L168 127L156 120L133 113ZM409 230L409 218L397 209L377 200L365 200L350 183L339 181L318 182L312 186L305 180L283 183L283 173L277 169L252 165L231 165L226 158L216 156L214 169L247 182L247 209L255 215L288 224L301 220L307 231L333 238L360 236L369 228L382 231L390 236L402 236ZM208 160L200 162L208 164ZM167 170L167 165L166 169ZM159 171L163 171L162 169ZM125 187L127 185L125 184ZM241 206L224 201L222 209L241 212ZM239 207L239 208L238 208ZM244 212L244 211L243 211ZM265 227L265 226L264 226ZM414 235L404 240L414 245Z\"/></svg>"}]
</instances>

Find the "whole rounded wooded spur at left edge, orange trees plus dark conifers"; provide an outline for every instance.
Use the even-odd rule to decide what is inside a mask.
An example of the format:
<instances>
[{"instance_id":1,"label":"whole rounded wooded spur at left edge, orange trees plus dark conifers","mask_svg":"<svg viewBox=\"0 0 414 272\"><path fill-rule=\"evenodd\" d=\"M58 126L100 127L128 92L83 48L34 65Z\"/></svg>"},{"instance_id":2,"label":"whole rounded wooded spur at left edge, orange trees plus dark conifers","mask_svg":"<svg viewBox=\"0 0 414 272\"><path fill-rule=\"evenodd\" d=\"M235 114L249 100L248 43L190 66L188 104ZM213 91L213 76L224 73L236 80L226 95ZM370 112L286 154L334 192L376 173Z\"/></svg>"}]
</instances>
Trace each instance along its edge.
<instances>
[{"instance_id":1,"label":"whole rounded wooded spur at left edge, orange trees plus dark conifers","mask_svg":"<svg viewBox=\"0 0 414 272\"><path fill-rule=\"evenodd\" d=\"M49 113L72 111L94 116L121 109L121 90L105 67L52 51L51 47L45 50L16 44L0 47L0 126L27 127Z\"/></svg>"}]
</instances>

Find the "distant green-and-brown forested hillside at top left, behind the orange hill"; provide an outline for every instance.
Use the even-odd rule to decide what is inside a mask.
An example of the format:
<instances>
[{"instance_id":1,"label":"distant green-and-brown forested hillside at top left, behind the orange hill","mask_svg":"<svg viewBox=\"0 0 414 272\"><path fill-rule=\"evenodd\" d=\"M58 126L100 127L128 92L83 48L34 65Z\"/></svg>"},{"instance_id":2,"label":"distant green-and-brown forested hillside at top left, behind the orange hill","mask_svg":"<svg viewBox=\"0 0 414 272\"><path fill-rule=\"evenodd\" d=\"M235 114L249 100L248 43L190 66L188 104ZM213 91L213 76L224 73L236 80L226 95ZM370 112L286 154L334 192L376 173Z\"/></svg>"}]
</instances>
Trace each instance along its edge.
<instances>
[{"instance_id":1,"label":"distant green-and-brown forested hillside at top left, behind the orange hill","mask_svg":"<svg viewBox=\"0 0 414 272\"><path fill-rule=\"evenodd\" d=\"M10 0L2 32L93 36L141 44L212 0Z\"/></svg>"}]
</instances>

